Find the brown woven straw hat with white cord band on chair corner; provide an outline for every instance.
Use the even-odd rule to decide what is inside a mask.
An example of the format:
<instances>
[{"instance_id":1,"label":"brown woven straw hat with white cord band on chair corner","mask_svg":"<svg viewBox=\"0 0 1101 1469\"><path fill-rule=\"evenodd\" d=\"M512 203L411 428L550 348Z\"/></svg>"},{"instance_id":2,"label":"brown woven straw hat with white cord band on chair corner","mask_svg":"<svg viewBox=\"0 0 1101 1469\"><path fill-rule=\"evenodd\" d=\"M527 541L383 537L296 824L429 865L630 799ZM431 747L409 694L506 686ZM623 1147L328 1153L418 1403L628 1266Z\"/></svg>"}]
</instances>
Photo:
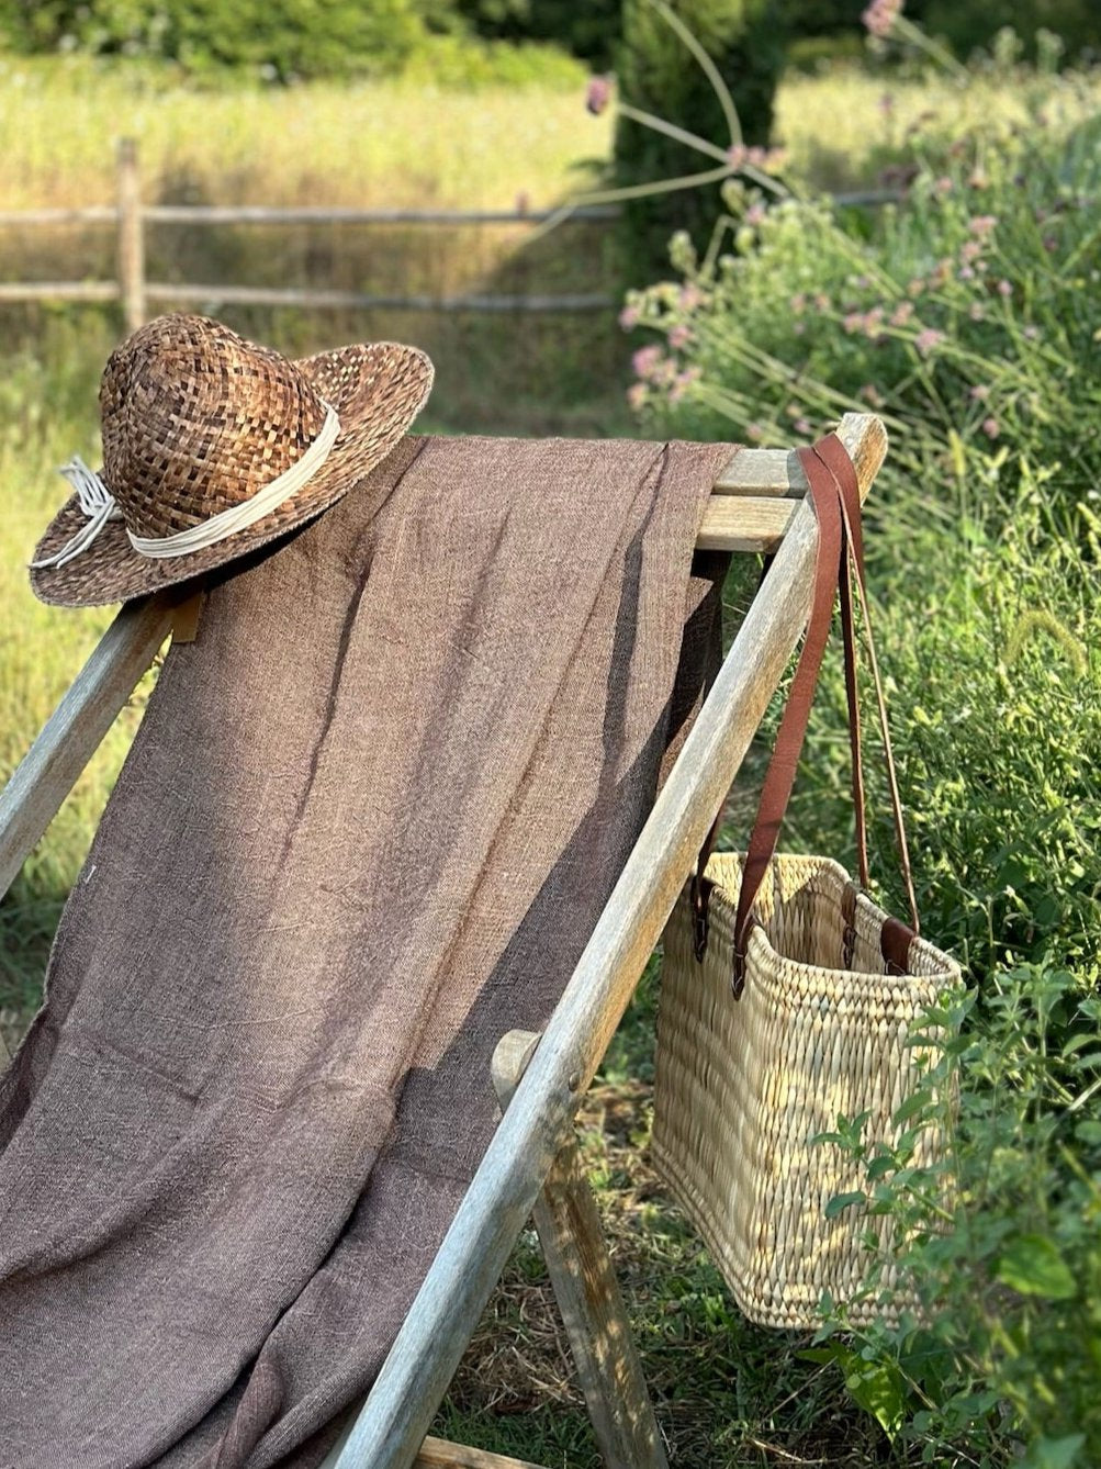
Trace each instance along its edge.
<instances>
[{"instance_id":1,"label":"brown woven straw hat with white cord band on chair corner","mask_svg":"<svg viewBox=\"0 0 1101 1469\"><path fill-rule=\"evenodd\" d=\"M76 492L35 548L35 595L125 602L285 535L390 452L432 378L396 342L288 361L208 317L150 322L107 361L103 470L62 470Z\"/></svg>"}]
</instances>

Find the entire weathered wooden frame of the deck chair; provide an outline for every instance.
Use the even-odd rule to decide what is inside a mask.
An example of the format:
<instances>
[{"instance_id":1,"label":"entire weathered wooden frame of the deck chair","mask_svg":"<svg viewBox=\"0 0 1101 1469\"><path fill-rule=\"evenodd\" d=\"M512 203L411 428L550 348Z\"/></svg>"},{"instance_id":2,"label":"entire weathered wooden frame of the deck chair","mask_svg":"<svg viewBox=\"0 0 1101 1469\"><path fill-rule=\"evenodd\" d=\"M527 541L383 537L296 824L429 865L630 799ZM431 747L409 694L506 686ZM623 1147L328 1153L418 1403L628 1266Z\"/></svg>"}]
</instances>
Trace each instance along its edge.
<instances>
[{"instance_id":1,"label":"entire weathered wooden frame of the deck chair","mask_svg":"<svg viewBox=\"0 0 1101 1469\"><path fill-rule=\"evenodd\" d=\"M846 414L838 435L863 498L887 433L872 416ZM321 1469L537 1469L426 1437L531 1215L605 1465L666 1469L573 1119L803 630L818 536L806 488L782 450L743 450L715 483L697 545L775 560L546 1030L512 1031L496 1049L502 1121L374 1387ZM0 795L0 896L164 639L194 638L197 614L194 598L163 593L125 607L104 633Z\"/></svg>"}]
</instances>

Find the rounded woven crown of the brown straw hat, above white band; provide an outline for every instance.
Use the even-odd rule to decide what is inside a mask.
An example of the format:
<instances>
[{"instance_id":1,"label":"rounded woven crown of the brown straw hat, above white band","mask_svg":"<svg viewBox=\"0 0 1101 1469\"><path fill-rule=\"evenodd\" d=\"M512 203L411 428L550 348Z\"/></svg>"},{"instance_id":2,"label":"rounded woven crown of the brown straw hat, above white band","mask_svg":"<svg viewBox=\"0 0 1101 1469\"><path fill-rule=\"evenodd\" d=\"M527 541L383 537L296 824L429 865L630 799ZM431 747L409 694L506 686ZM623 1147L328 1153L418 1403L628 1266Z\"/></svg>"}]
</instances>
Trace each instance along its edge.
<instances>
[{"instance_id":1,"label":"rounded woven crown of the brown straw hat, above white band","mask_svg":"<svg viewBox=\"0 0 1101 1469\"><path fill-rule=\"evenodd\" d=\"M326 405L299 369L203 316L161 316L100 385L103 479L129 530L163 538L251 499L297 464Z\"/></svg>"}]
</instances>

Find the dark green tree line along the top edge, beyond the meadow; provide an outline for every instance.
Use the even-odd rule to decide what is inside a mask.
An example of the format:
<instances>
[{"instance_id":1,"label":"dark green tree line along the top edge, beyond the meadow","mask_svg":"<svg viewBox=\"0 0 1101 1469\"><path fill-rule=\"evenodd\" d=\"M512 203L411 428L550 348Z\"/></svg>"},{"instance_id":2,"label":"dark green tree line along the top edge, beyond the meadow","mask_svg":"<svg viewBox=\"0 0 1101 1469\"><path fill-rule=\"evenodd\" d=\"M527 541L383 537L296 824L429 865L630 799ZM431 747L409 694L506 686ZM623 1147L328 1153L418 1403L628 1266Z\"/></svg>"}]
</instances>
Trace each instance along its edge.
<instances>
[{"instance_id":1,"label":"dark green tree line along the top edge, beyond the meadow","mask_svg":"<svg viewBox=\"0 0 1101 1469\"><path fill-rule=\"evenodd\" d=\"M781 40L834 40L853 48L865 0L674 0L716 47L744 63L750 43L765 73ZM16 51L150 54L191 71L261 68L272 79L401 71L433 35L545 43L597 69L622 66L631 28L652 28L639 0L0 0L0 40ZM1014 26L1026 47L1038 28L1069 59L1101 53L1095 0L909 0L906 13L966 57ZM658 29L658 46L674 50ZM762 37L768 46L757 50Z\"/></svg>"}]
</instances>

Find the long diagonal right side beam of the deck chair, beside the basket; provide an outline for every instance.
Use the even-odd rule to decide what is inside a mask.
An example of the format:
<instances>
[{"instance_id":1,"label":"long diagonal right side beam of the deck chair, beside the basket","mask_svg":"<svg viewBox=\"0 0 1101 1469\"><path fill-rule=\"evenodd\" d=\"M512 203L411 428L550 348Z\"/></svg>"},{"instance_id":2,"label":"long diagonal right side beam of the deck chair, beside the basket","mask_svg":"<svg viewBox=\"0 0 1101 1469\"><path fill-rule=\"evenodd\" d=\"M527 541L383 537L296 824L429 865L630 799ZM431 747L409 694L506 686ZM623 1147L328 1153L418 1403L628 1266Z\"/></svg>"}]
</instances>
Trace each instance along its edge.
<instances>
[{"instance_id":1,"label":"long diagonal right side beam of the deck chair, beside the basket","mask_svg":"<svg viewBox=\"0 0 1101 1469\"><path fill-rule=\"evenodd\" d=\"M882 463L878 419L840 435L865 495ZM818 526L809 501L684 742L592 939L467 1190L336 1469L410 1469L584 1089L634 993L806 623Z\"/></svg>"}]
</instances>

